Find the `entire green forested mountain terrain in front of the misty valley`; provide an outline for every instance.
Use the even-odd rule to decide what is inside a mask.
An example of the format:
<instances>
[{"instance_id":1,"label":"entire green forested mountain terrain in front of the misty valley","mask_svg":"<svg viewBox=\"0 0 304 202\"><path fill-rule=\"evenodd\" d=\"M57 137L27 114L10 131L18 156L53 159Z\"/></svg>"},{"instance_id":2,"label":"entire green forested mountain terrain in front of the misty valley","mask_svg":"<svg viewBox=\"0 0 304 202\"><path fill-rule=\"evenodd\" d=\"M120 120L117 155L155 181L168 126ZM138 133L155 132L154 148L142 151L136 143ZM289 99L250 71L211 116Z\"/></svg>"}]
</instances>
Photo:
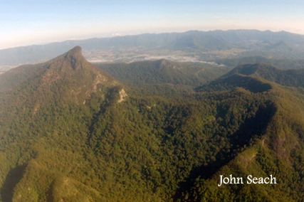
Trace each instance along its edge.
<instances>
[{"instance_id":1,"label":"entire green forested mountain terrain in front of the misty valley","mask_svg":"<svg viewBox=\"0 0 304 202\"><path fill-rule=\"evenodd\" d=\"M1 201L303 200L304 92L293 76L159 60L147 69L164 77L146 80L113 66L95 68L76 47L0 76ZM219 174L279 184L218 188Z\"/></svg>"}]
</instances>

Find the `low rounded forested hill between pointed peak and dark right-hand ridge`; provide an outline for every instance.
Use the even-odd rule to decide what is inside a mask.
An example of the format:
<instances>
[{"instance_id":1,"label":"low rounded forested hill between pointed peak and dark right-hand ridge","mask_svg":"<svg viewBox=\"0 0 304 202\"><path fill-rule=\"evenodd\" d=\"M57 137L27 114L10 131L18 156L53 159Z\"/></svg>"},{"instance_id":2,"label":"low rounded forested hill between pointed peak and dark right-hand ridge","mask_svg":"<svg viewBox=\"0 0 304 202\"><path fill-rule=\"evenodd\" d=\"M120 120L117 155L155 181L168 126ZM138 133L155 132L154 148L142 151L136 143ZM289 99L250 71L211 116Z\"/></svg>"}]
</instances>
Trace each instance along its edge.
<instances>
[{"instance_id":1,"label":"low rounded forested hill between pointed peak and dark right-hand ridge","mask_svg":"<svg viewBox=\"0 0 304 202\"><path fill-rule=\"evenodd\" d=\"M227 68L205 63L177 63L169 60L98 64L100 70L128 85L201 85L214 80Z\"/></svg>"}]
</instances>

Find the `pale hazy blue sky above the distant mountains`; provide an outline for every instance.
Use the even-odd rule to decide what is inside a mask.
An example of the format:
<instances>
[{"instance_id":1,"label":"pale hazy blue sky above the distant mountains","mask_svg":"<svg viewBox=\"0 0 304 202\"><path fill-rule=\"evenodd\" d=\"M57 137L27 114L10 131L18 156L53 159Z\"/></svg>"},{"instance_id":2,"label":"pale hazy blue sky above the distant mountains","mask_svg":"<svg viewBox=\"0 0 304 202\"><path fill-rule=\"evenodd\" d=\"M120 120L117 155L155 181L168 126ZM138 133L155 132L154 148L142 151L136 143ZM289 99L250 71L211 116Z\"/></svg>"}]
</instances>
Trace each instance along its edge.
<instances>
[{"instance_id":1,"label":"pale hazy blue sky above the distant mountains","mask_svg":"<svg viewBox=\"0 0 304 202\"><path fill-rule=\"evenodd\" d=\"M304 34L302 0L0 0L0 48L187 30Z\"/></svg>"}]
</instances>

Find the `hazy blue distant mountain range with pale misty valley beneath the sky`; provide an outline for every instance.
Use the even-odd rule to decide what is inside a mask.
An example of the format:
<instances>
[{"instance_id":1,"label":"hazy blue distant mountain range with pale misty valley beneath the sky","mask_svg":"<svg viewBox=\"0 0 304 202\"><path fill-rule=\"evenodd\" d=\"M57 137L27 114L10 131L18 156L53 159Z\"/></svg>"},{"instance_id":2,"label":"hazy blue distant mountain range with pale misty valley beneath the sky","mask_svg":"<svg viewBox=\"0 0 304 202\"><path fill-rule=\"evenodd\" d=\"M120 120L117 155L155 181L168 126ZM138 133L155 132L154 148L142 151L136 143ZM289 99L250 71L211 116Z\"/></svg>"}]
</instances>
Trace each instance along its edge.
<instances>
[{"instance_id":1,"label":"hazy blue distant mountain range with pale misty valley beneath the sky","mask_svg":"<svg viewBox=\"0 0 304 202\"><path fill-rule=\"evenodd\" d=\"M285 31L233 30L90 38L0 50L0 66L43 62L78 45L88 60L96 62L151 58L203 61L248 56L298 59L304 53L304 36Z\"/></svg>"}]
</instances>

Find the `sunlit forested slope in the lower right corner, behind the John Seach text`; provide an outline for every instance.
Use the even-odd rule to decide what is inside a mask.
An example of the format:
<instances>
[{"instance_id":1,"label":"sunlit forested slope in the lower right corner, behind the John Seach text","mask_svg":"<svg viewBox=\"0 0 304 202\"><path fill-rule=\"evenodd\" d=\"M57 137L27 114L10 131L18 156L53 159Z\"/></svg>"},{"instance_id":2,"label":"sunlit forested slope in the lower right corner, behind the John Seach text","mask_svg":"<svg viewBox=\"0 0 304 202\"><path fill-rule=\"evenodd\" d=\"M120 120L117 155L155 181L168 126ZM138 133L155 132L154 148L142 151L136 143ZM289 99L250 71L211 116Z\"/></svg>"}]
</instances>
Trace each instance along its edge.
<instances>
[{"instance_id":1,"label":"sunlit forested slope in the lower right corner, behind the John Seach text","mask_svg":"<svg viewBox=\"0 0 304 202\"><path fill-rule=\"evenodd\" d=\"M303 201L304 94L276 87L276 113L261 139L206 176L204 166L177 201ZM261 119L259 119L261 121ZM244 131L248 133L247 130ZM219 175L276 176L278 184L224 185ZM246 182L245 182L246 183Z\"/></svg>"}]
</instances>

